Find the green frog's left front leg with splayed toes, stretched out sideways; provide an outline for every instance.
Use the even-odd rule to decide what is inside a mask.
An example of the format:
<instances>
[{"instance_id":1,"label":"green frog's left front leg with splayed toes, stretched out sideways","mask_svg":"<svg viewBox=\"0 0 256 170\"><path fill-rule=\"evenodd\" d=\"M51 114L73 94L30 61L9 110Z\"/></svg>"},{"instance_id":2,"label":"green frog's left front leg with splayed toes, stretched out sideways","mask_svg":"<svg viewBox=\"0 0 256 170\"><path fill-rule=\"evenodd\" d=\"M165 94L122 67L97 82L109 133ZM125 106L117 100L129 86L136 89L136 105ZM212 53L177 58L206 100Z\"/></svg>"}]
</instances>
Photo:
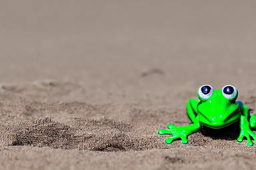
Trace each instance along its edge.
<instances>
[{"instance_id":1,"label":"green frog's left front leg with splayed toes, stretched out sideways","mask_svg":"<svg viewBox=\"0 0 256 170\"><path fill-rule=\"evenodd\" d=\"M188 142L187 136L200 130L199 116L196 117L194 123L187 126L176 127L173 124L167 126L168 129L159 129L158 134L172 134L172 137L165 139L170 144L174 139L181 138L183 144Z\"/></svg>"}]
</instances>

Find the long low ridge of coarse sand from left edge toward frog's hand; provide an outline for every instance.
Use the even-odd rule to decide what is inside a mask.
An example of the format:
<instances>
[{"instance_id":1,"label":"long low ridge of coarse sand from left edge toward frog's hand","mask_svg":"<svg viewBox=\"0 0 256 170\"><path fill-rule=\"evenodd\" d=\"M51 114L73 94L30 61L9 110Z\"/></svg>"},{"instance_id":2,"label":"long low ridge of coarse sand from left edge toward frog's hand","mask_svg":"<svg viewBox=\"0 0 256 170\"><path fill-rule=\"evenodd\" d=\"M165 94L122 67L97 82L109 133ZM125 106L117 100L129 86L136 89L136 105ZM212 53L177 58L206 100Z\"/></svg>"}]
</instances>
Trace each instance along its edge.
<instances>
[{"instance_id":1,"label":"long low ridge of coarse sand from left edge toward frog's hand","mask_svg":"<svg viewBox=\"0 0 256 170\"><path fill-rule=\"evenodd\" d=\"M78 121L76 121L78 120ZM157 136L133 136L124 133L125 128L112 121L73 119L75 128L57 123L49 118L0 124L1 145L83 149L93 151L128 151L159 148ZM91 127L84 130L83 126ZM97 128L95 128L97 126ZM124 128L124 129L122 129ZM80 131L77 131L80 129ZM156 144L156 145L154 145Z\"/></svg>"}]
</instances>

